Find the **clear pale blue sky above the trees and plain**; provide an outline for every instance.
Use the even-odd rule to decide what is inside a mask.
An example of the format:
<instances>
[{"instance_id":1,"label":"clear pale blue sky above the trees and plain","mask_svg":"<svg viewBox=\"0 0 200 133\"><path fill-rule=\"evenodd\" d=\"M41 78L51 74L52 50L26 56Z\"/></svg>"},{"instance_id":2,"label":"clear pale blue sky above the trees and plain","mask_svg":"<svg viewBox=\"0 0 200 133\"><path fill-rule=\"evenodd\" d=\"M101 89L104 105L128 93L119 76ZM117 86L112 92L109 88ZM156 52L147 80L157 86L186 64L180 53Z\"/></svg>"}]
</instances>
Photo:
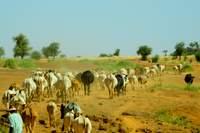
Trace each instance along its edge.
<instances>
[{"instance_id":1,"label":"clear pale blue sky above the trees and plain","mask_svg":"<svg viewBox=\"0 0 200 133\"><path fill-rule=\"evenodd\" d=\"M12 56L13 36L40 50L52 41L67 56L153 54L200 40L200 0L0 0L0 46Z\"/></svg>"}]
</instances>

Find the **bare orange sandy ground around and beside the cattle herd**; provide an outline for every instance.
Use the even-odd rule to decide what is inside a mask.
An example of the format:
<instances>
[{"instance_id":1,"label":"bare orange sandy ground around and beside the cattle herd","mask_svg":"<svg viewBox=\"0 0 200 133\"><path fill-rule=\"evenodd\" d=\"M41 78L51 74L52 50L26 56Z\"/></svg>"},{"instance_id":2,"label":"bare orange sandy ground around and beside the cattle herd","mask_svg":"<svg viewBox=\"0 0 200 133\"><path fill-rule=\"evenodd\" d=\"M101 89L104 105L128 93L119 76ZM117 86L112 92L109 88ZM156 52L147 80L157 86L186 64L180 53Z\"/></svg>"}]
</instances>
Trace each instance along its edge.
<instances>
[{"instance_id":1,"label":"bare orange sandy ground around and beside the cattle herd","mask_svg":"<svg viewBox=\"0 0 200 133\"><path fill-rule=\"evenodd\" d=\"M48 65L44 65L48 68ZM82 70L88 66L77 66L71 64L72 68ZM2 93L12 82L21 85L22 81L30 75L30 70L7 70L0 69L0 98ZM200 66L196 65L194 75L200 77ZM138 87L132 90L128 86L125 96L108 98L108 91L102 90L97 83L91 88L90 96L77 96L71 99L80 104L84 115L92 120L93 133L190 133L198 132L200 129L200 93L183 90L185 83L184 74L166 72L161 77L150 80L146 87ZM195 80L199 85L200 80ZM164 89L157 89L161 86ZM83 93L83 92L82 92ZM54 99L54 98L50 98ZM46 111L47 102L50 99L33 106L38 112L35 133L50 132L48 126L48 115ZM0 108L4 106L0 104ZM178 126L166 122L157 121L154 113L161 109L170 110L174 115L184 116L189 120L190 126ZM60 114L57 115L57 132L61 132ZM44 120L46 125L39 123Z\"/></svg>"}]
</instances>

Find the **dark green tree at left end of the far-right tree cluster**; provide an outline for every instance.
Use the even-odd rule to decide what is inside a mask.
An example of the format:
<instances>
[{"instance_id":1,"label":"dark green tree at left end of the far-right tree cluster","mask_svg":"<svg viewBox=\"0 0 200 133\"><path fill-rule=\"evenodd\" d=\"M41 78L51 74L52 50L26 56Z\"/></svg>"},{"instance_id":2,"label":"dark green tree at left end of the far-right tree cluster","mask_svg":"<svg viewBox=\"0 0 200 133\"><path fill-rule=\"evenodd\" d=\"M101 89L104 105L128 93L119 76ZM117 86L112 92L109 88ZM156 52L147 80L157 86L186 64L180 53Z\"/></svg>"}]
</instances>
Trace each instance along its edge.
<instances>
[{"instance_id":1,"label":"dark green tree at left end of the far-right tree cluster","mask_svg":"<svg viewBox=\"0 0 200 133\"><path fill-rule=\"evenodd\" d=\"M175 46L174 56L179 57L179 60L181 60L181 56L185 52L185 43L179 42Z\"/></svg>"}]
</instances>

